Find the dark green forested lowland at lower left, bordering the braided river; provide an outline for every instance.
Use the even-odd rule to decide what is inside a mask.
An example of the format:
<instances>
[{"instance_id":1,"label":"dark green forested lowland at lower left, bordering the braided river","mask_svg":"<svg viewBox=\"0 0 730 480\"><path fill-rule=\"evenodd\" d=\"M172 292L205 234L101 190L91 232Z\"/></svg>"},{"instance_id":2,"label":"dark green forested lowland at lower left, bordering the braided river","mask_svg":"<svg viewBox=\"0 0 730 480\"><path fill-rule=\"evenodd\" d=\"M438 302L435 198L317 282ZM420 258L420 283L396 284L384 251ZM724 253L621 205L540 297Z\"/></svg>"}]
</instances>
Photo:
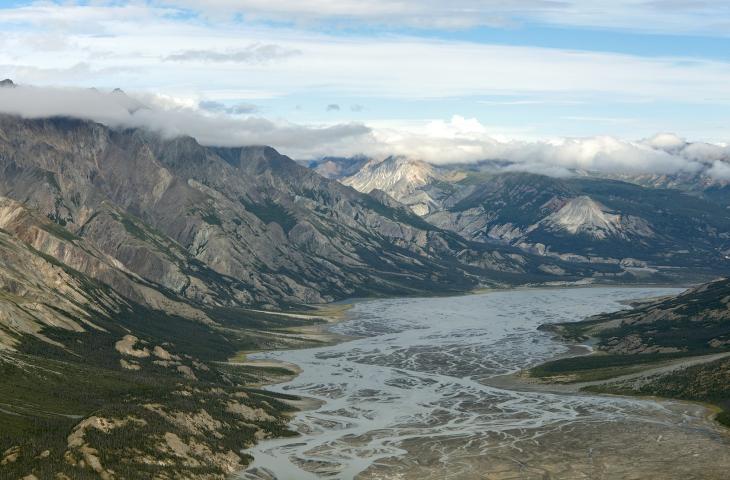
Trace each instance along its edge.
<instances>
[{"instance_id":1,"label":"dark green forested lowland at lower left, bordering the braided river","mask_svg":"<svg viewBox=\"0 0 730 480\"><path fill-rule=\"evenodd\" d=\"M99 478L87 458L92 452L115 478L174 472L175 478L223 479L250 461L240 454L247 445L292 435L286 424L293 408L284 401L297 397L256 386L293 372L227 359L266 344L265 330L312 322L243 309L209 314L220 327L132 305L94 318L106 331L45 329L63 348L24 337L18 352L0 354L0 460L3 452L19 453L0 467L0 476ZM138 338L134 348L147 353L117 350L129 332ZM152 353L155 346L167 360ZM123 368L125 362L136 370ZM71 445L69 435L94 417L113 427L87 426L83 442Z\"/></svg>"}]
</instances>

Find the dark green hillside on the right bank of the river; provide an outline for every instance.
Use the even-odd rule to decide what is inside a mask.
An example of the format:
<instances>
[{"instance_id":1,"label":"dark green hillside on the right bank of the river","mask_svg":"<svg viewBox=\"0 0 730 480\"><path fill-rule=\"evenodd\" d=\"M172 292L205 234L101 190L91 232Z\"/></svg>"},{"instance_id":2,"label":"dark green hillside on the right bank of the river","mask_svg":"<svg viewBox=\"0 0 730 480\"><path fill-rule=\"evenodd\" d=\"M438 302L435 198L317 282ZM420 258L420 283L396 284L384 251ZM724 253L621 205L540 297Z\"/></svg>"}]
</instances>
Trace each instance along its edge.
<instances>
[{"instance_id":1,"label":"dark green hillside on the right bank of the river","mask_svg":"<svg viewBox=\"0 0 730 480\"><path fill-rule=\"evenodd\" d=\"M709 403L722 410L716 419L730 426L730 357L652 371L683 359L730 353L730 280L641 303L633 310L541 328L570 341L593 337L601 353L548 362L533 368L532 376L564 383L601 381L585 387L598 393ZM631 374L636 375L630 380L618 378Z\"/></svg>"}]
</instances>

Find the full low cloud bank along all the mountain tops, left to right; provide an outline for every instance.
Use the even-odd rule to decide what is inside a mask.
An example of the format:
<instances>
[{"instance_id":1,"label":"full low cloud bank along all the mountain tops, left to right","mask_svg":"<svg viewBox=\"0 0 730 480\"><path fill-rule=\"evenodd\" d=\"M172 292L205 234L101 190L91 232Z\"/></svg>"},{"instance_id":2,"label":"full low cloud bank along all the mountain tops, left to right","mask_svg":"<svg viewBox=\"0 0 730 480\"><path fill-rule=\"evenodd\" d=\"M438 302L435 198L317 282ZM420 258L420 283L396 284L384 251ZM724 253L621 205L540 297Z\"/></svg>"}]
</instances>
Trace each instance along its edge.
<instances>
[{"instance_id":1,"label":"full low cloud bank along all the mountain tops, left to right","mask_svg":"<svg viewBox=\"0 0 730 480\"><path fill-rule=\"evenodd\" d=\"M0 113L25 118L72 116L111 127L146 128L165 136L190 135L204 145L271 145L295 158L365 154L404 155L435 164L507 160L511 169L548 175L575 170L611 174L688 173L730 180L730 147L687 142L673 134L638 141L614 137L546 141L499 140L476 119L418 127L371 128L361 123L305 126L251 116L210 102L161 95L128 96L94 89L0 88Z\"/></svg>"}]
</instances>

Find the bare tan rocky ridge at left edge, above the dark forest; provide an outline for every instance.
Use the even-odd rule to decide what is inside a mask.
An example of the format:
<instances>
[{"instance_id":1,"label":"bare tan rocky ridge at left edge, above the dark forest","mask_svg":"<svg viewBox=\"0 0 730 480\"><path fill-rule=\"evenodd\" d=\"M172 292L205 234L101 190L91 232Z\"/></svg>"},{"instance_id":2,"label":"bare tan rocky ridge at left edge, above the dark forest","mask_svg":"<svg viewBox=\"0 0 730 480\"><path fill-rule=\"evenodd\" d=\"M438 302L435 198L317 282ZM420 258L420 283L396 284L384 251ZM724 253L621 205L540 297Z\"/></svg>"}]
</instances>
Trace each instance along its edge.
<instances>
[{"instance_id":1,"label":"bare tan rocky ridge at left edge, above the dark forest","mask_svg":"<svg viewBox=\"0 0 730 480\"><path fill-rule=\"evenodd\" d=\"M96 328L94 316L108 317L128 302L213 323L203 311L161 291L85 239L2 197L0 232L2 294L9 295L4 303L9 313L0 318L0 330L13 332L0 344L12 346L31 333L58 346L41 333L44 327Z\"/></svg>"}]
</instances>

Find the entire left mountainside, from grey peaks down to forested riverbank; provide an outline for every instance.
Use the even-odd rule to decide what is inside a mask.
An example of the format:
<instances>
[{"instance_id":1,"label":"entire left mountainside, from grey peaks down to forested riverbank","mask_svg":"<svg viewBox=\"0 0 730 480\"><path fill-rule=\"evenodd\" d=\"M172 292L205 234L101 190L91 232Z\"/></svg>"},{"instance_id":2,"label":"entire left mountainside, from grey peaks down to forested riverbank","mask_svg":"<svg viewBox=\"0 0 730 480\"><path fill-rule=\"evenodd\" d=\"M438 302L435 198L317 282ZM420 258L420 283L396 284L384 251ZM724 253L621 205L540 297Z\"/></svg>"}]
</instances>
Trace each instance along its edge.
<instances>
[{"instance_id":1,"label":"entire left mountainside, from grey peaks down to forested riverbank","mask_svg":"<svg viewBox=\"0 0 730 480\"><path fill-rule=\"evenodd\" d=\"M625 273L465 239L269 147L0 116L0 468L225 478L296 400L241 352L321 344L309 305Z\"/></svg>"}]
</instances>

